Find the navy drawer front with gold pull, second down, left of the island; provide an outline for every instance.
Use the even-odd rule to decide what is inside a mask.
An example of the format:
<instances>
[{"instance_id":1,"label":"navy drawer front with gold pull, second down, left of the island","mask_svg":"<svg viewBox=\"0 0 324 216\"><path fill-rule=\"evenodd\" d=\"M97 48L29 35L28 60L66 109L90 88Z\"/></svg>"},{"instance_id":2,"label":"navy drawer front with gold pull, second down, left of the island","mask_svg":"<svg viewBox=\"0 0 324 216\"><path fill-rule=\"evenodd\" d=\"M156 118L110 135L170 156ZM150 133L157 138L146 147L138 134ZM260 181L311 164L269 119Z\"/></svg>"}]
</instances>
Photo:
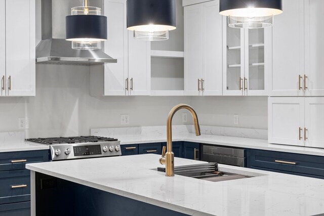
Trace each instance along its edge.
<instances>
[{"instance_id":1,"label":"navy drawer front with gold pull, second down, left of the island","mask_svg":"<svg viewBox=\"0 0 324 216\"><path fill-rule=\"evenodd\" d=\"M12 188L12 186L26 187ZM27 169L0 172L0 204L30 201L30 171Z\"/></svg>"}]
</instances>

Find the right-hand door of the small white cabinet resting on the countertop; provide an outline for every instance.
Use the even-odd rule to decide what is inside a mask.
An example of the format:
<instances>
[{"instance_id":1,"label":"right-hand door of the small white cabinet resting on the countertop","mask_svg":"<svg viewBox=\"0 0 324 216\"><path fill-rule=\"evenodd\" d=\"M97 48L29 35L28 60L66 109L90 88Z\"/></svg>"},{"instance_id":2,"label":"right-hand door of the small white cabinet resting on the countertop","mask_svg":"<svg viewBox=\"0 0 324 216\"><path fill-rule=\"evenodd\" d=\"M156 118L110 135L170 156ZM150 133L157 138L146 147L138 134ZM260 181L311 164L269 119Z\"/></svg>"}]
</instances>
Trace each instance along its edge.
<instances>
[{"instance_id":1,"label":"right-hand door of the small white cabinet resting on the countertop","mask_svg":"<svg viewBox=\"0 0 324 216\"><path fill-rule=\"evenodd\" d=\"M304 129L306 147L324 148L324 97L305 98Z\"/></svg>"}]
</instances>

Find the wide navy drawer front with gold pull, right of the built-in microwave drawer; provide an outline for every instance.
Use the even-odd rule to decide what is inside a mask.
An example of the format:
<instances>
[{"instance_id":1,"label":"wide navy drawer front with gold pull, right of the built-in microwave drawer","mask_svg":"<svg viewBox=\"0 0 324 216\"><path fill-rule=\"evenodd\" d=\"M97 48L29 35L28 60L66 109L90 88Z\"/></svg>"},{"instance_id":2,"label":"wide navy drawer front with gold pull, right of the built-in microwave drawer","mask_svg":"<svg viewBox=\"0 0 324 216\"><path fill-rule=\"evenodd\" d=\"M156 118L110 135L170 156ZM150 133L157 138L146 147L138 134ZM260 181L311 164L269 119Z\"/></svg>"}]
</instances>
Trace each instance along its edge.
<instances>
[{"instance_id":1,"label":"wide navy drawer front with gold pull, right of the built-in microwave drawer","mask_svg":"<svg viewBox=\"0 0 324 216\"><path fill-rule=\"evenodd\" d=\"M272 171L282 171L288 174L324 178L324 157L294 154L287 152L265 151L250 149L248 154L248 167ZM293 164L275 161L294 162Z\"/></svg>"}]
</instances>

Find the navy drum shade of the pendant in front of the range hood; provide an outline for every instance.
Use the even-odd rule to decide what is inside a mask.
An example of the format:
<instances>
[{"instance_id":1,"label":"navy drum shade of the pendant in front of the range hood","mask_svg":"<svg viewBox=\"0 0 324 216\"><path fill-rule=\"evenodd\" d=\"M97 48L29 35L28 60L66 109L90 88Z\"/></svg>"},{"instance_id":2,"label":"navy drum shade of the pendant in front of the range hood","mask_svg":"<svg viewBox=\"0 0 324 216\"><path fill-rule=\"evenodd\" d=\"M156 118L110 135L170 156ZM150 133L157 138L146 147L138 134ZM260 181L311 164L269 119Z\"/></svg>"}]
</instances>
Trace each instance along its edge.
<instances>
[{"instance_id":1,"label":"navy drum shade of the pendant in front of the range hood","mask_svg":"<svg viewBox=\"0 0 324 216\"><path fill-rule=\"evenodd\" d=\"M66 39L107 39L107 17L98 15L66 16Z\"/></svg>"}]
</instances>

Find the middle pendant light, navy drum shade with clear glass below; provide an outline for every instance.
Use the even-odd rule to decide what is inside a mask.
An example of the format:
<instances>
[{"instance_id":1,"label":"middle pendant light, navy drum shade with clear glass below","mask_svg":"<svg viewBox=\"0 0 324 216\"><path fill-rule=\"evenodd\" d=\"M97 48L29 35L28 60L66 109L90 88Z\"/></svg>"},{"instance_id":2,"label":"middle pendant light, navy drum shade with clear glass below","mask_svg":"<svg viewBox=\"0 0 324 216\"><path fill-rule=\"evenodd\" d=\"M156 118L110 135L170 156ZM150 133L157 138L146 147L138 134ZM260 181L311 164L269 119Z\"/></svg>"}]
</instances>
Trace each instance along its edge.
<instances>
[{"instance_id":1,"label":"middle pendant light, navy drum shade with clear glass below","mask_svg":"<svg viewBox=\"0 0 324 216\"><path fill-rule=\"evenodd\" d=\"M176 29L176 0L127 0L127 29L141 40L167 40Z\"/></svg>"}]
</instances>

